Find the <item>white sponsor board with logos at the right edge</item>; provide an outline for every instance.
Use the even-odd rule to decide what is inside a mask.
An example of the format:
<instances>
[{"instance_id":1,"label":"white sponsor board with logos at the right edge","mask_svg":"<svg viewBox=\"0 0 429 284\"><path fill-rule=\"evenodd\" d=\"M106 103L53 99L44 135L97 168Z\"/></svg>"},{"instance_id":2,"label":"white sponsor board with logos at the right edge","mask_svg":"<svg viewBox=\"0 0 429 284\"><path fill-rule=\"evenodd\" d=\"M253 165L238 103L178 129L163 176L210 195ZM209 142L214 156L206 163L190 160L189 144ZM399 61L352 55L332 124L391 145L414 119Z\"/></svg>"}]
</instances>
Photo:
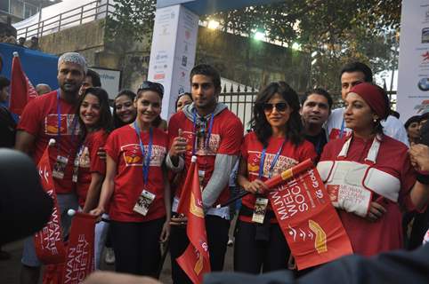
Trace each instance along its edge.
<instances>
[{"instance_id":1,"label":"white sponsor board with logos at the right edge","mask_svg":"<svg viewBox=\"0 0 429 284\"><path fill-rule=\"evenodd\" d=\"M429 0L403 0L398 75L401 121L429 112Z\"/></svg>"}]
</instances>

